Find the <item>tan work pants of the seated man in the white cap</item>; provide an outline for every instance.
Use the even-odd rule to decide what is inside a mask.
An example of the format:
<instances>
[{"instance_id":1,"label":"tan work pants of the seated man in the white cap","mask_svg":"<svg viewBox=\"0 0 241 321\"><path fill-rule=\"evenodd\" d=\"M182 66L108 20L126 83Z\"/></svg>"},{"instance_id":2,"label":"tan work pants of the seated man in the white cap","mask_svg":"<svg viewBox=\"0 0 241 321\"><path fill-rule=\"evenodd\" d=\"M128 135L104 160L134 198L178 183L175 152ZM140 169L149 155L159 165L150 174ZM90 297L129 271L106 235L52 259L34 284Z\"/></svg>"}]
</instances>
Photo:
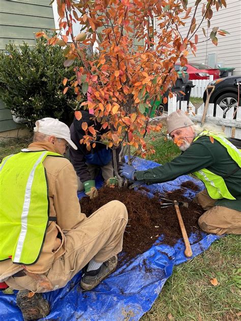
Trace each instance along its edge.
<instances>
[{"instance_id":1,"label":"tan work pants of the seated man in the white cap","mask_svg":"<svg viewBox=\"0 0 241 321\"><path fill-rule=\"evenodd\" d=\"M64 230L66 252L53 262L46 274L54 290L64 287L91 259L105 262L119 253L127 221L126 206L119 201L111 201L75 229ZM10 277L6 283L15 290L47 292L45 288L37 287L37 282L27 275Z\"/></svg>"}]
</instances>

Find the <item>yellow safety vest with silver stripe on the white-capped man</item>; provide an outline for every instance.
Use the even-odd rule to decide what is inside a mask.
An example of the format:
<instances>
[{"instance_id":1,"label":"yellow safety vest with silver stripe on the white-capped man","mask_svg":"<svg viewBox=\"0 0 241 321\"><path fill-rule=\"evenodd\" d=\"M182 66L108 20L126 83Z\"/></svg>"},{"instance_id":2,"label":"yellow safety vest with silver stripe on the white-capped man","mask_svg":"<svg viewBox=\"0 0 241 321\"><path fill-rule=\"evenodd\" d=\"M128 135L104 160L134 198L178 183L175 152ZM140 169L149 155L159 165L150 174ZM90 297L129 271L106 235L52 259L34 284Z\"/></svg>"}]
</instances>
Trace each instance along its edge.
<instances>
[{"instance_id":1,"label":"yellow safety vest with silver stripe on the white-capped man","mask_svg":"<svg viewBox=\"0 0 241 321\"><path fill-rule=\"evenodd\" d=\"M48 225L48 187L43 161L49 151L10 155L0 165L0 261L34 264ZM4 231L4 233L3 233Z\"/></svg>"}]
</instances>

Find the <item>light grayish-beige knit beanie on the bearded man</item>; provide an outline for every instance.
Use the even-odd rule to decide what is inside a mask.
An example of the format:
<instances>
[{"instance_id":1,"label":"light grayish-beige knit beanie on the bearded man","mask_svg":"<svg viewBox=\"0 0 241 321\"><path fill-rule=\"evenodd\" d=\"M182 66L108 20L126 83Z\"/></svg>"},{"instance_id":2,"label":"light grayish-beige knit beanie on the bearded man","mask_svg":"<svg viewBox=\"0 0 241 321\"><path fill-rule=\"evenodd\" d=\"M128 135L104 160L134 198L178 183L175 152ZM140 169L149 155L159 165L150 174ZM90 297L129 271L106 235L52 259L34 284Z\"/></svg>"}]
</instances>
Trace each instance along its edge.
<instances>
[{"instance_id":1,"label":"light grayish-beige knit beanie on the bearded man","mask_svg":"<svg viewBox=\"0 0 241 321\"><path fill-rule=\"evenodd\" d=\"M181 110L174 111L167 117L167 133L177 130L178 128L194 125L192 120Z\"/></svg>"}]
</instances>

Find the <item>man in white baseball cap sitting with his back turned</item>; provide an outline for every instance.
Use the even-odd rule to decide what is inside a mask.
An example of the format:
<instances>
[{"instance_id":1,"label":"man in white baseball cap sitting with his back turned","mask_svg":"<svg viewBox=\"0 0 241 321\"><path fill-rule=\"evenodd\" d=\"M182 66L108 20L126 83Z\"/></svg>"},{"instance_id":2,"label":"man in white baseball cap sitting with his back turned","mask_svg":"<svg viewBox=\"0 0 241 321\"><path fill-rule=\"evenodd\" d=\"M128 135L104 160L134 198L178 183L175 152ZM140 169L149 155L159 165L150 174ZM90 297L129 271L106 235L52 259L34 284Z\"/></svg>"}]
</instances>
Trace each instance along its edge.
<instances>
[{"instance_id":1,"label":"man in white baseball cap sitting with his back turned","mask_svg":"<svg viewBox=\"0 0 241 321\"><path fill-rule=\"evenodd\" d=\"M20 290L24 320L48 315L42 293L81 269L84 290L114 271L128 221L118 201L88 218L81 213L76 173L63 156L67 144L77 149L66 124L47 117L34 132L32 144L0 164L0 282Z\"/></svg>"}]
</instances>

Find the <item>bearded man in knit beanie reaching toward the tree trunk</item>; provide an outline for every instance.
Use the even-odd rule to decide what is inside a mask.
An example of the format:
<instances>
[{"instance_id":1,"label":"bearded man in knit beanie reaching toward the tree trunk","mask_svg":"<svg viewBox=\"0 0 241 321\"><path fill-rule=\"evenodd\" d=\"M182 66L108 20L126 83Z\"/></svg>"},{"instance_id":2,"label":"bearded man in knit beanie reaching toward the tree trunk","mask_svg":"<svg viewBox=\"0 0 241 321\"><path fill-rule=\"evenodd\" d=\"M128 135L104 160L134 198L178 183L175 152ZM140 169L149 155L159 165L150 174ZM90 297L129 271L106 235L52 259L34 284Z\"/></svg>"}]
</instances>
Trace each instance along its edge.
<instances>
[{"instance_id":1,"label":"bearded man in knit beanie reaching toward the tree trunk","mask_svg":"<svg viewBox=\"0 0 241 321\"><path fill-rule=\"evenodd\" d=\"M167 132L182 154L163 166L136 171L122 164L119 173L133 181L154 184L193 174L205 185L195 198L204 210L198 223L207 233L241 234L241 153L222 135L194 126L182 111L167 117Z\"/></svg>"}]
</instances>

